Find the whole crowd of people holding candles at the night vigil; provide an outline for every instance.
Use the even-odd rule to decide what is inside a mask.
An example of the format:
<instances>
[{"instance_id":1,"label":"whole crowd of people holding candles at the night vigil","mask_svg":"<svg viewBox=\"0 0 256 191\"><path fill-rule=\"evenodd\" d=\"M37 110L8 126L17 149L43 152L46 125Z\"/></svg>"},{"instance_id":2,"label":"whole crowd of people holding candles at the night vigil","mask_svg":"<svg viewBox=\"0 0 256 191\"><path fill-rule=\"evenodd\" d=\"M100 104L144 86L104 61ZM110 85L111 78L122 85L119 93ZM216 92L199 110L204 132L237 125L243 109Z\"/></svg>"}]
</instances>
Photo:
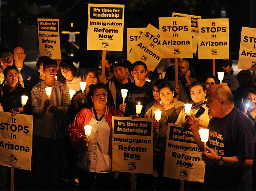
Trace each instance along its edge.
<instances>
[{"instance_id":1,"label":"whole crowd of people holding candles at the night vigil","mask_svg":"<svg viewBox=\"0 0 256 191\"><path fill-rule=\"evenodd\" d=\"M188 190L251 190L256 188L254 159L256 85L250 71L233 76L232 59L221 60L223 84L212 74L200 79L187 60L178 63L179 86L175 87L174 67L167 68L165 79L158 79L142 61L130 63L106 55L105 73L99 68L86 68L77 74L69 56L61 60L47 56L37 59L37 71L24 64L22 47L0 51L1 111L33 115L33 168L38 190L60 190L63 153L68 159L70 183L79 182L80 190L131 190L130 173L114 172L112 160L112 117L136 119L136 104L142 111L138 117L154 119L152 174L137 174L137 190L178 190L180 181L163 176L168 123L191 124L195 141L204 150L198 129L209 128L207 164L204 184L186 182ZM101 81L101 77L103 81ZM56 80L57 76L57 80ZM147 79L151 82L146 81ZM84 91L80 82L86 82ZM52 87L51 99L45 88ZM75 90L70 99L69 90ZM127 89L123 103L121 89ZM22 107L21 95L28 95ZM191 103L190 115L184 104ZM197 111L205 112L199 118ZM154 111L162 111L155 120ZM84 126L91 125L85 135ZM215 136L217 135L217 136ZM202 172L203 173L203 172ZM0 190L8 186L8 168L0 166ZM78 178L77 178L78 177Z\"/></svg>"}]
</instances>

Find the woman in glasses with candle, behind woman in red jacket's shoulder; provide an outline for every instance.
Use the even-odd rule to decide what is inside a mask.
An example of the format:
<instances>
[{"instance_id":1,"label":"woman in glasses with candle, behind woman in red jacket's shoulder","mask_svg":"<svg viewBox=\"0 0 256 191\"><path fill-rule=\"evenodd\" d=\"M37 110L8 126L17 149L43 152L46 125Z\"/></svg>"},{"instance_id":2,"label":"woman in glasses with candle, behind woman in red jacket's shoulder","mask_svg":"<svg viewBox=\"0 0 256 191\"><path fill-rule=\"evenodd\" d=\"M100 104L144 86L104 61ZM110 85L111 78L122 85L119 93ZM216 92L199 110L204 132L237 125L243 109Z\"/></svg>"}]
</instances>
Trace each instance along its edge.
<instances>
[{"instance_id":1,"label":"woman in glasses with candle, behind woman in red jacket's shoulder","mask_svg":"<svg viewBox=\"0 0 256 191\"><path fill-rule=\"evenodd\" d=\"M97 84L98 82L98 72L95 69L92 68L88 68L84 71L83 74L83 81L86 82L86 87L85 87L85 91L84 93L82 92L82 90L76 91L76 93L73 95L72 101L71 101L71 109L73 110L73 112L71 112L71 114L73 115L73 117L84 107L86 107L88 105L88 93L89 93L89 86L91 84ZM79 87L80 89L80 87ZM83 103L82 103L82 100ZM72 111L71 110L71 111ZM72 120L72 118L71 118Z\"/></svg>"}]
</instances>

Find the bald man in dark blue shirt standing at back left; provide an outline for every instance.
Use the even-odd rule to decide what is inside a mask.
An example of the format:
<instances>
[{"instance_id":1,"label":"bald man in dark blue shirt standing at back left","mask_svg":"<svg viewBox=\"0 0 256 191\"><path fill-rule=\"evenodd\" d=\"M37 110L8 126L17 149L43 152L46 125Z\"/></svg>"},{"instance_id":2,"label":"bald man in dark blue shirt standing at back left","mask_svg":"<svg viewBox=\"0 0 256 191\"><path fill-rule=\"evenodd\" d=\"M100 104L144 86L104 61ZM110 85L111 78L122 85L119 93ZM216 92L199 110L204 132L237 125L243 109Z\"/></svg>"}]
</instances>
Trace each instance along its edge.
<instances>
[{"instance_id":1,"label":"bald man in dark blue shirt standing at back left","mask_svg":"<svg viewBox=\"0 0 256 191\"><path fill-rule=\"evenodd\" d=\"M22 47L16 47L13 50L14 64L18 68L20 74L22 75L25 88L27 88L28 83L35 77L35 71L29 66L24 64L24 59L26 54Z\"/></svg>"}]
</instances>

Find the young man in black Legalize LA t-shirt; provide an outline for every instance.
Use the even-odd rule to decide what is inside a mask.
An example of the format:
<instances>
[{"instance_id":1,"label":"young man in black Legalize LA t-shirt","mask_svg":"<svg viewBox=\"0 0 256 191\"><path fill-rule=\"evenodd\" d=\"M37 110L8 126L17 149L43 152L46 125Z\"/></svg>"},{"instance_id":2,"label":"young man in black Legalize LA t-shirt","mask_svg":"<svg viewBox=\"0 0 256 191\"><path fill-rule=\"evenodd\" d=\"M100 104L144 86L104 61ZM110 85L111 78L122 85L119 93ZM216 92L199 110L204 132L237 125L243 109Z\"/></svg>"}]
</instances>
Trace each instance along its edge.
<instances>
[{"instance_id":1,"label":"young man in black Legalize LA t-shirt","mask_svg":"<svg viewBox=\"0 0 256 191\"><path fill-rule=\"evenodd\" d=\"M152 84L145 81L147 66L141 61L136 61L132 65L131 74L134 77L133 83L127 86L128 93L125 100L125 105L120 104L119 109L125 111L125 116L136 115L136 105L140 102L142 105L140 117L144 117L146 105L154 100L152 93Z\"/></svg>"}]
</instances>

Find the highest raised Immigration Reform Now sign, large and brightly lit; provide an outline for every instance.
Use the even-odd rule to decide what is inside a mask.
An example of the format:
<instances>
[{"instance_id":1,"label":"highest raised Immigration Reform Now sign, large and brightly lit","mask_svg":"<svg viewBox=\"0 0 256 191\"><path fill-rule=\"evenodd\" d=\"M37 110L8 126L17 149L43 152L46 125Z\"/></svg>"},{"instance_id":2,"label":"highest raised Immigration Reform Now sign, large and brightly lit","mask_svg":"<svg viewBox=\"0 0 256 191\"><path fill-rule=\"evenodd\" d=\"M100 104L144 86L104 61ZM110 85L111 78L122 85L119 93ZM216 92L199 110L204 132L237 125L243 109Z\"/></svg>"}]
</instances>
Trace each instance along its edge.
<instances>
[{"instance_id":1,"label":"highest raised Immigration Reform Now sign, large and brightly lit","mask_svg":"<svg viewBox=\"0 0 256 191\"><path fill-rule=\"evenodd\" d=\"M88 4L87 50L123 50L124 8Z\"/></svg>"}]
</instances>

